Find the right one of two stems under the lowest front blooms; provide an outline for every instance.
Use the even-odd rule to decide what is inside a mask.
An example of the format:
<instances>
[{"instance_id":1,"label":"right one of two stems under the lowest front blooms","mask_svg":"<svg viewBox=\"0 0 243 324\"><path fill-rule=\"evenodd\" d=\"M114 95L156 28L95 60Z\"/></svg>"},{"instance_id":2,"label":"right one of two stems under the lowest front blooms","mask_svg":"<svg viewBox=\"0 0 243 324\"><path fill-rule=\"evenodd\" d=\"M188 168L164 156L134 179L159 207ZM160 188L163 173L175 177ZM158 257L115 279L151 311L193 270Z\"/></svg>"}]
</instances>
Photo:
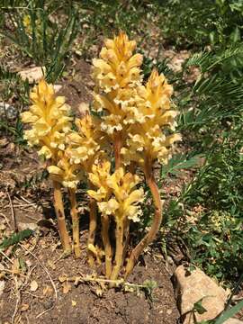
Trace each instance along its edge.
<instances>
[{"instance_id":1,"label":"right one of two stems under the lowest front blooms","mask_svg":"<svg viewBox=\"0 0 243 324\"><path fill-rule=\"evenodd\" d=\"M115 229L116 250L115 250L115 265L113 266L112 275L111 275L112 280L117 279L121 269L122 257L123 257L123 233L124 233L123 220L118 220L116 222L116 229Z\"/></svg>"}]
</instances>

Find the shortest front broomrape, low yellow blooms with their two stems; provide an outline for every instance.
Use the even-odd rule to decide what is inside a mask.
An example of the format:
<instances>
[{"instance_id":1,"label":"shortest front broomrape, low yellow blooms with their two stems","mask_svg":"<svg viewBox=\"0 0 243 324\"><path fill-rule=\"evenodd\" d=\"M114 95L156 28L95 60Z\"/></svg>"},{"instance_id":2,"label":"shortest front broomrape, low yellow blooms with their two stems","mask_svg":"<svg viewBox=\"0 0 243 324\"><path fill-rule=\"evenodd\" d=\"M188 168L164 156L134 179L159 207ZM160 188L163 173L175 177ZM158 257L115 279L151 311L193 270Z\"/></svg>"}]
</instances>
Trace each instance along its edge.
<instances>
[{"instance_id":1,"label":"shortest front broomrape, low yellow blooms with their two stems","mask_svg":"<svg viewBox=\"0 0 243 324\"><path fill-rule=\"evenodd\" d=\"M125 174L122 167L110 175L110 168L111 164L107 161L93 167L93 173L89 174L89 178L99 189L89 190L88 194L97 201L102 214L106 277L116 280L124 255L124 225L128 220L139 221L139 216L141 216L139 202L143 202L144 193L141 188L134 189L139 183L137 175ZM113 267L109 238L109 218L111 217L116 223L116 250Z\"/></svg>"}]
</instances>

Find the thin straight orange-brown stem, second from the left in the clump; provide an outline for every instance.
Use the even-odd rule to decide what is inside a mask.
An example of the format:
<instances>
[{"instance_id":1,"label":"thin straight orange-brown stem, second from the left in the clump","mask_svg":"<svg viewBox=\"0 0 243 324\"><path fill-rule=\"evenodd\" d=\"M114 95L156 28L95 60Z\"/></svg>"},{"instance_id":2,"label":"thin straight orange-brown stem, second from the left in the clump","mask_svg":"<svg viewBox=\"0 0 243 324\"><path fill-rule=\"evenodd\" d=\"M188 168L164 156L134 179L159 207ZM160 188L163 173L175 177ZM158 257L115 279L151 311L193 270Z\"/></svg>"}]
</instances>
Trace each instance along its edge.
<instances>
[{"instance_id":1,"label":"thin straight orange-brown stem, second from the left in the clump","mask_svg":"<svg viewBox=\"0 0 243 324\"><path fill-rule=\"evenodd\" d=\"M81 256L80 243L79 243L79 217L76 211L76 193L74 189L69 189L69 199L71 202L71 217L73 225L73 240L75 257Z\"/></svg>"}]
</instances>

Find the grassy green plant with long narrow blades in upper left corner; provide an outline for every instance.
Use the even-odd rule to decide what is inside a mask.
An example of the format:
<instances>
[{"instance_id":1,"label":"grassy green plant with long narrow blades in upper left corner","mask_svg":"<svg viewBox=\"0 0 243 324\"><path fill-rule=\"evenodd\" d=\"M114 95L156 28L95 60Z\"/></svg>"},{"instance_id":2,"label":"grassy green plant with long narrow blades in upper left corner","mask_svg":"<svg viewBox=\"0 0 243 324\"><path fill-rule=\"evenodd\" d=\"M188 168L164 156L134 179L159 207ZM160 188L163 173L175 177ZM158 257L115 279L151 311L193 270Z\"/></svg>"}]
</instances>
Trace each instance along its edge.
<instances>
[{"instance_id":1,"label":"grassy green plant with long narrow blades in upper left corner","mask_svg":"<svg viewBox=\"0 0 243 324\"><path fill-rule=\"evenodd\" d=\"M65 59L76 38L75 7L68 8L64 23L60 24L51 19L53 7L43 0L24 2L21 7L15 5L2 9L5 23L0 32L38 66L46 67L47 78L55 81L64 70Z\"/></svg>"}]
</instances>

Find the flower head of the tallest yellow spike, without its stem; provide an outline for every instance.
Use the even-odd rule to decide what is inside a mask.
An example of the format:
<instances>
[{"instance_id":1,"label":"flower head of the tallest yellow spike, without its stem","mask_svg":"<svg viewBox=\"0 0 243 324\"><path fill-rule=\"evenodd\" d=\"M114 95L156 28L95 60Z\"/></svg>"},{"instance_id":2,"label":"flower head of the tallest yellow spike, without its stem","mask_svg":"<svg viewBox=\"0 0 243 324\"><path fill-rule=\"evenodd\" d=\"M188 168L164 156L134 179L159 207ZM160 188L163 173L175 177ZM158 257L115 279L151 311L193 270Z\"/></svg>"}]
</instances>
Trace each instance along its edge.
<instances>
[{"instance_id":1,"label":"flower head of the tallest yellow spike, without its stem","mask_svg":"<svg viewBox=\"0 0 243 324\"><path fill-rule=\"evenodd\" d=\"M110 137L126 130L134 122L134 109L139 96L142 56L133 55L136 42L121 32L113 40L105 40L100 58L93 60L94 109L103 112L101 129Z\"/></svg>"}]
</instances>

